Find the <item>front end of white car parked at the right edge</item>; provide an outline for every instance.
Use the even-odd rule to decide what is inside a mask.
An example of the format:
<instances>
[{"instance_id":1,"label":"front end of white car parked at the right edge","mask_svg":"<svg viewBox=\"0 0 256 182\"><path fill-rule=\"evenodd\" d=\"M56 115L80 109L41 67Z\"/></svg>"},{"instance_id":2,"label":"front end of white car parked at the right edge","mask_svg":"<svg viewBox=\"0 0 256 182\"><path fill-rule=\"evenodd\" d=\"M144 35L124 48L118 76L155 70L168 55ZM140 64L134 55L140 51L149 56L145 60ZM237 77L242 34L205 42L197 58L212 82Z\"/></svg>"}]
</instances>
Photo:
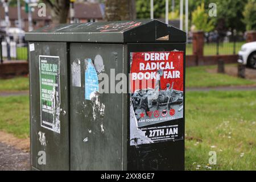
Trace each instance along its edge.
<instances>
[{"instance_id":1,"label":"front end of white car parked at the right edge","mask_svg":"<svg viewBox=\"0 0 256 182\"><path fill-rule=\"evenodd\" d=\"M238 55L238 63L245 64L251 68L256 68L256 42L243 44Z\"/></svg>"}]
</instances>

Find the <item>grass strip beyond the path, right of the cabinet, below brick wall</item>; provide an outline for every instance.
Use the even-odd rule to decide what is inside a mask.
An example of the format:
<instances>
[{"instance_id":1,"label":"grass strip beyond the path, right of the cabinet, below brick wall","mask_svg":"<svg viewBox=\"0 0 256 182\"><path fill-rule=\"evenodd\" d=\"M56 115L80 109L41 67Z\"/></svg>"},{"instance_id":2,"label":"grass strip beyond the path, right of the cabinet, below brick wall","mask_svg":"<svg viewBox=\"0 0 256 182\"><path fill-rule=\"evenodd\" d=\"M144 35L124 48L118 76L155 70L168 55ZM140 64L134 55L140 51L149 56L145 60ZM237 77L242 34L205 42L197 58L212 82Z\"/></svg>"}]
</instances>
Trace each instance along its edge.
<instances>
[{"instance_id":1,"label":"grass strip beyond the path, right of the cabinet, below brick wall","mask_svg":"<svg viewBox=\"0 0 256 182\"><path fill-rule=\"evenodd\" d=\"M214 87L256 84L254 81L245 80L220 73L208 73L208 68L216 65L189 67L186 69L186 87Z\"/></svg>"}]
</instances>

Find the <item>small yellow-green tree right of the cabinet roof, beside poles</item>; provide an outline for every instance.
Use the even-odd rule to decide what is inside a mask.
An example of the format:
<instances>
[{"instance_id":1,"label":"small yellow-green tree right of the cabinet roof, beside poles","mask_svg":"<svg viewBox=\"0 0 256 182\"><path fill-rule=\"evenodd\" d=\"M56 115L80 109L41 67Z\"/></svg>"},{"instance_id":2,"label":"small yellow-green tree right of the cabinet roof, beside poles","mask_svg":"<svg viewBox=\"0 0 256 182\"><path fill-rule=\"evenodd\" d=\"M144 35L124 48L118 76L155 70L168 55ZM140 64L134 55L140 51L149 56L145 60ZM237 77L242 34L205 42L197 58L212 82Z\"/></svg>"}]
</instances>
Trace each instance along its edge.
<instances>
[{"instance_id":1,"label":"small yellow-green tree right of the cabinet roof, beside poles","mask_svg":"<svg viewBox=\"0 0 256 182\"><path fill-rule=\"evenodd\" d=\"M197 6L197 9L192 12L192 24L196 30L210 32L214 29L213 19L208 19L208 14L204 9L204 3Z\"/></svg>"}]
</instances>

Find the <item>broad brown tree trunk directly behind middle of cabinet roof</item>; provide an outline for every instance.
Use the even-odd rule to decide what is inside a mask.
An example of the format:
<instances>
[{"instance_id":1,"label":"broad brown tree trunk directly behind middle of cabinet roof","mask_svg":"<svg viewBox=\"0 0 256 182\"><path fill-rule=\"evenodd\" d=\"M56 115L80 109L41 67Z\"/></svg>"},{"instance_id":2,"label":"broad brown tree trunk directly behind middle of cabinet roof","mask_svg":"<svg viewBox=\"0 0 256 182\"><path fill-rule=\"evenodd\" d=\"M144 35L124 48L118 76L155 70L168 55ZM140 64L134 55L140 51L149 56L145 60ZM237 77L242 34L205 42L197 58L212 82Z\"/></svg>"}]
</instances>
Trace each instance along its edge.
<instances>
[{"instance_id":1,"label":"broad brown tree trunk directly behind middle of cabinet roof","mask_svg":"<svg viewBox=\"0 0 256 182\"><path fill-rule=\"evenodd\" d=\"M135 0L106 0L106 20L136 19Z\"/></svg>"}]
</instances>

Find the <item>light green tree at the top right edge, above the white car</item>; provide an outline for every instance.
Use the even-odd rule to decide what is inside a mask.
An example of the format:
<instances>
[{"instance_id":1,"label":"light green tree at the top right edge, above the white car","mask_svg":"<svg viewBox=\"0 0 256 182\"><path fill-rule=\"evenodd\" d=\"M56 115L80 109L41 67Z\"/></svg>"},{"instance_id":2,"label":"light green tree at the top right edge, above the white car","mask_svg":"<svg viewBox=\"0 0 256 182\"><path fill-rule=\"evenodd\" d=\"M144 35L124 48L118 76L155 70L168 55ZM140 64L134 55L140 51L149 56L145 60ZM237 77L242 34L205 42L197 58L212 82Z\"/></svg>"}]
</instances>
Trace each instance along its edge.
<instances>
[{"instance_id":1,"label":"light green tree at the top right edge, above the white car","mask_svg":"<svg viewBox=\"0 0 256 182\"><path fill-rule=\"evenodd\" d=\"M250 0L245 5L243 11L243 22L246 24L246 30L256 30L256 1Z\"/></svg>"}]
</instances>

